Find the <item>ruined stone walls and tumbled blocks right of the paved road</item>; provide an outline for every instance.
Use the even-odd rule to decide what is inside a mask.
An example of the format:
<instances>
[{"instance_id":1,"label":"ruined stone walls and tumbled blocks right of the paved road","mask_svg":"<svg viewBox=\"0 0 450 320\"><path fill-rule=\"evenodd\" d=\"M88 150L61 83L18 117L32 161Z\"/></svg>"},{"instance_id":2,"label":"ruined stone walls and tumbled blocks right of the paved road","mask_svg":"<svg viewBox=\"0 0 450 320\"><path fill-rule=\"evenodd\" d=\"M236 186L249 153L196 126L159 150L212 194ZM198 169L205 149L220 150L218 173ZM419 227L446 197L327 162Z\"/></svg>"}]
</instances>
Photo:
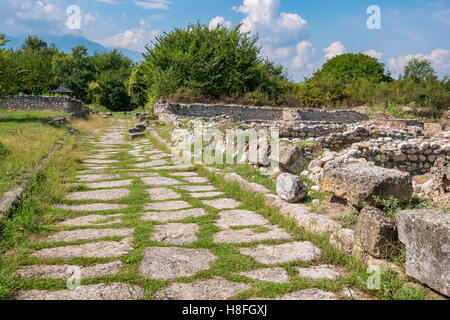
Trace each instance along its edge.
<instances>
[{"instance_id":1,"label":"ruined stone walls and tumbled blocks right of the paved road","mask_svg":"<svg viewBox=\"0 0 450 320\"><path fill-rule=\"evenodd\" d=\"M356 228L340 227L331 234L338 250L374 261L387 258L392 244L400 241L406 247L406 274L450 296L450 132L443 126L436 132L436 126L427 130L417 120L369 120L345 110L160 101L154 111L176 126L200 119L207 128L277 129L279 169L272 177L284 173L277 184L281 199L305 198L301 172L316 184L313 191L331 193L358 209ZM259 149L258 159L250 162L267 172L270 159L269 147ZM377 208L380 200L408 203L413 197L442 210L401 211L393 219Z\"/></svg>"}]
</instances>

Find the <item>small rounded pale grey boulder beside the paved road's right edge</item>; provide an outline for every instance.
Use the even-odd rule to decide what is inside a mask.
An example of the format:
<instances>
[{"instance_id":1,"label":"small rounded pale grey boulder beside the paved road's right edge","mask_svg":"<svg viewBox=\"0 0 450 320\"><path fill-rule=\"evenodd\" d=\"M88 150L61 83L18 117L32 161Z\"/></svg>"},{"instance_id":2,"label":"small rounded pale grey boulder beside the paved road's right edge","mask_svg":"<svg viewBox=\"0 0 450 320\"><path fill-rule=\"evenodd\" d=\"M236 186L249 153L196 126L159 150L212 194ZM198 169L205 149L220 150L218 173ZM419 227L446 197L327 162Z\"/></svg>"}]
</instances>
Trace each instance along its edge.
<instances>
[{"instance_id":1,"label":"small rounded pale grey boulder beside the paved road's right edge","mask_svg":"<svg viewBox=\"0 0 450 320\"><path fill-rule=\"evenodd\" d=\"M283 173L277 179L277 193L289 203L299 202L307 197L308 185L298 176Z\"/></svg>"}]
</instances>

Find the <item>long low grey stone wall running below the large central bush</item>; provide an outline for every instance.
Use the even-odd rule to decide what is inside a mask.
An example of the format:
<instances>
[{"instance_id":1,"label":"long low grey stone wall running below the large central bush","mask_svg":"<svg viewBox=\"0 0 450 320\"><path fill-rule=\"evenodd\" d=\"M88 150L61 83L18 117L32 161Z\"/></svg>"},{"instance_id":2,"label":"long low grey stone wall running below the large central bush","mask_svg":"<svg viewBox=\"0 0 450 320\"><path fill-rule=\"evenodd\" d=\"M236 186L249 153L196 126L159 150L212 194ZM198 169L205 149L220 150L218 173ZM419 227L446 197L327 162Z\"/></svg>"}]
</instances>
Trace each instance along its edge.
<instances>
[{"instance_id":1,"label":"long low grey stone wall running below the large central bush","mask_svg":"<svg viewBox=\"0 0 450 320\"><path fill-rule=\"evenodd\" d=\"M235 120L284 120L291 122L314 121L330 123L356 123L368 120L362 113L347 110L307 110L281 107L254 107L222 104L157 103L154 112L160 120L172 122L181 118L214 118L232 116Z\"/></svg>"}]
</instances>

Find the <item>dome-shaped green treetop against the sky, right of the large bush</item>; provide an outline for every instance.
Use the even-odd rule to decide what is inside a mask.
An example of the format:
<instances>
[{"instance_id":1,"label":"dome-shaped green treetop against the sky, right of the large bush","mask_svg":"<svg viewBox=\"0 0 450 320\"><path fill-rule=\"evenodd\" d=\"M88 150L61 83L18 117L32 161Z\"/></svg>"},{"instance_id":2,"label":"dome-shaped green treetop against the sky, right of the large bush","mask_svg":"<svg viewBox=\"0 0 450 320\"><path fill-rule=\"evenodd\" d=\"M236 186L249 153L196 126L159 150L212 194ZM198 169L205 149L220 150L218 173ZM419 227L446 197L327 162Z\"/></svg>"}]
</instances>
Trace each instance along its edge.
<instances>
[{"instance_id":1,"label":"dome-shaped green treetop against the sky, right of the large bush","mask_svg":"<svg viewBox=\"0 0 450 320\"><path fill-rule=\"evenodd\" d=\"M392 81L389 73L385 73L384 64L365 54L347 53L328 60L321 70L314 73L315 80L336 79L348 82L352 79L366 79L374 83Z\"/></svg>"}]
</instances>

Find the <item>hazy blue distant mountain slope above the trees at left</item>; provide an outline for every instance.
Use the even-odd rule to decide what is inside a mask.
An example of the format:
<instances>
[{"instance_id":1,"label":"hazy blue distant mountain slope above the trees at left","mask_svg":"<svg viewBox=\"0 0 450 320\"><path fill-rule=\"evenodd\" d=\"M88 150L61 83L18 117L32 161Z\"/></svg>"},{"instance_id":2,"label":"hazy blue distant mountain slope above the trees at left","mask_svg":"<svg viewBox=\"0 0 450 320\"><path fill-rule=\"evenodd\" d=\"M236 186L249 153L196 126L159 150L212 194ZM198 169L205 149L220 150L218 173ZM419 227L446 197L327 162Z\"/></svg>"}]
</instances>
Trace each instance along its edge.
<instances>
[{"instance_id":1,"label":"hazy blue distant mountain slope above the trees at left","mask_svg":"<svg viewBox=\"0 0 450 320\"><path fill-rule=\"evenodd\" d=\"M54 35L38 35L38 37L42 40L44 40L45 42L48 43L48 45L54 43L56 45L56 47L66 53L70 53L72 52L72 48L75 46L79 46L79 45L83 45L88 49L88 52L90 55L94 54L94 52L106 52L106 51L110 51L116 48L108 48L105 46L102 46L101 44L94 42L94 41L90 41L86 38L82 38L82 37L76 37L73 35L64 35L64 36L54 36ZM18 49L20 47L22 47L23 42L25 41L25 38L14 38L14 37L10 37L8 35L6 35L6 39L10 40L10 42L8 42L6 44L6 48L7 49ZM142 61L143 57L142 57L142 53L137 52L137 51L133 51L133 50L128 50L128 49L122 49L122 48L117 48L117 50L119 50L124 56L130 58L131 60L133 60L134 62L140 62Z\"/></svg>"}]
</instances>

